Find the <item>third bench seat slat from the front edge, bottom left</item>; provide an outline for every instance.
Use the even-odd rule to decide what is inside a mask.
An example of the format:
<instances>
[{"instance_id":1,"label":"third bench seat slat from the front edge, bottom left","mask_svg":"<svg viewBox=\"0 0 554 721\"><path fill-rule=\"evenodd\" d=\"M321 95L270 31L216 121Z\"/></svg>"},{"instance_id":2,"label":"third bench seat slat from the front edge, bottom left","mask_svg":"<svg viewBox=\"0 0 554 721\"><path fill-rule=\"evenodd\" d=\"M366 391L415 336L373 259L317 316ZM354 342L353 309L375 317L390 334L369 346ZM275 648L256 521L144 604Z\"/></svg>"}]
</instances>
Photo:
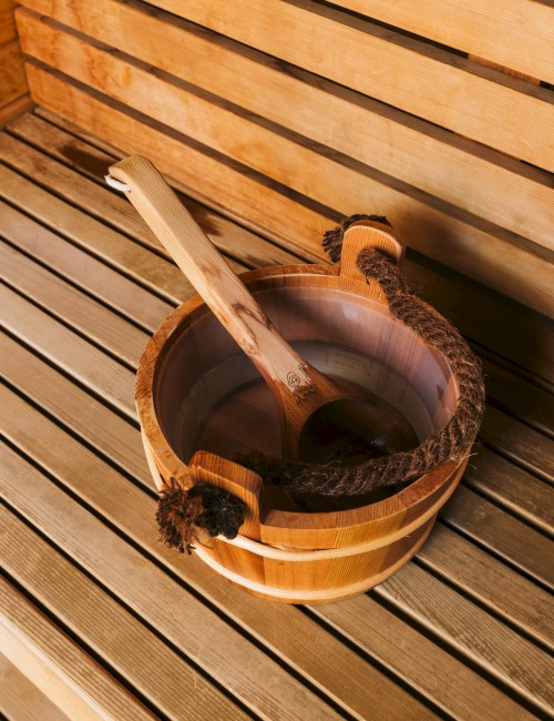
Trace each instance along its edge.
<instances>
[{"instance_id":1,"label":"third bench seat slat from the front edge, bottom left","mask_svg":"<svg viewBox=\"0 0 554 721\"><path fill-rule=\"evenodd\" d=\"M38 470L8 449L0 464L7 498L19 512L255 713L280 719L339 718L258 648L229 633L216 613L160 568L145 562L135 548ZM121 506L115 498L113 502ZM421 711L428 718L422 707L413 709L412 718Z\"/></svg>"}]
</instances>

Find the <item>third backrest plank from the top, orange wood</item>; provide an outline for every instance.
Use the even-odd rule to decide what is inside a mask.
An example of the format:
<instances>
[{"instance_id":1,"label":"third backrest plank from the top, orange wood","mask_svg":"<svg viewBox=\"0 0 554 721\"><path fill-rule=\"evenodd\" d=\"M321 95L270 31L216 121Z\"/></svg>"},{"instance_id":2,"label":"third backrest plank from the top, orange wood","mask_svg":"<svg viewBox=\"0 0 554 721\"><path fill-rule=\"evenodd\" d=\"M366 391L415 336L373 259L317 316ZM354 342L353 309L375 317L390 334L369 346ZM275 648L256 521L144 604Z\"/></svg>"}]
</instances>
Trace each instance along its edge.
<instances>
[{"instance_id":1,"label":"third backrest plank from the top, orange wood","mask_svg":"<svg viewBox=\"0 0 554 721\"><path fill-rule=\"evenodd\" d=\"M510 163L502 154L343 87L325 83L299 68L276 67L266 55L220 35L199 33L163 11L148 8L146 13L141 4L112 0L102 0L94 8L84 4L79 13L62 3L43 6L41 11L100 41L124 27L126 32L117 34L116 47L127 55L409 186L551 245L551 179L519 162ZM32 18L21 12L20 30L23 37L30 34L33 53L40 53L37 45L44 30ZM141 32L145 22L147 37ZM264 88L264 92L252 92L253 87ZM517 212L511 196L519 199Z\"/></svg>"}]
</instances>

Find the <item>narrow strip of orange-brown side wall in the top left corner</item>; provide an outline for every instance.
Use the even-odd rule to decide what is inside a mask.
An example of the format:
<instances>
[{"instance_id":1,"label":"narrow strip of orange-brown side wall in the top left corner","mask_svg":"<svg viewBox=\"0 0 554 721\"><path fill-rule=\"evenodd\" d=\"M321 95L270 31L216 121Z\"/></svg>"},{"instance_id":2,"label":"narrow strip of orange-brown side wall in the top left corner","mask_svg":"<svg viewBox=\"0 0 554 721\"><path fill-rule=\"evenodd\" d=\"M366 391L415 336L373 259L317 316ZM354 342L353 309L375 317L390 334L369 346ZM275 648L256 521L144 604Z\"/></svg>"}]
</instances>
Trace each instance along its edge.
<instances>
[{"instance_id":1,"label":"narrow strip of orange-brown side wall in the top left corner","mask_svg":"<svg viewBox=\"0 0 554 721\"><path fill-rule=\"evenodd\" d=\"M14 0L0 0L0 128L31 104L13 18Z\"/></svg>"}]
</instances>

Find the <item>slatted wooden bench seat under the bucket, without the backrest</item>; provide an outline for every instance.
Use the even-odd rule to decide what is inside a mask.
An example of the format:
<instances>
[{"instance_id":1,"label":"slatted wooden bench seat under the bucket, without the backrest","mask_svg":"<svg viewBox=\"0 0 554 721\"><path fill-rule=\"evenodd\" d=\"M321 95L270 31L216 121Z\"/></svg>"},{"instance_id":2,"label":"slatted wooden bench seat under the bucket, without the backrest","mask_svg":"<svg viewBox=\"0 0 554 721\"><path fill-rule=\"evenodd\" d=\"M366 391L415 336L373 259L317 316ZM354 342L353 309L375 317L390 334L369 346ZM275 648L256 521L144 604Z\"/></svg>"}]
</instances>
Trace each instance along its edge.
<instances>
[{"instance_id":1,"label":"slatted wooden bench seat under the bucket, without the backrest","mask_svg":"<svg viewBox=\"0 0 554 721\"><path fill-rule=\"evenodd\" d=\"M24 133L31 128L37 133L44 123L58 139L52 158L62 172L54 172L58 166L44 152L50 140L44 145L37 135L25 140ZM86 668L100 668L103 682L123 682L127 698L137 708L146 704L155 718L280 719L295 708L307 719L387 721L547 714L552 578L544 559L552 532L552 400L543 321L409 253L410 282L437 298L443 313L451 308L485 357L492 413L482 428L483 446L406 567L409 572L334 605L297 609L257 599L194 556L166 551L156 540L156 494L132 407L132 348L138 346L137 328L152 334L184 297L167 296L163 276L171 266L160 255L160 277L141 280L145 271L138 272L136 260L147 265L155 254L143 255L145 247L124 225L117 203L106 204L103 219L100 205L88 212L94 186L83 181L92 179L91 167L86 159L60 153L71 140L78 149L96 149L101 159L112 153L107 167L113 149L85 133L79 138L74 128L69 134L68 125L44 111L18 128L2 143L1 169L10 171L4 175L10 181L0 191L2 281L10 298L1 305L8 333L0 336L0 372L9 390L2 390L0 405L8 444L0 454L0 548L16 598L24 598L33 618L47 619L48 612L43 638L51 659L35 666L38 647L30 641L38 627L22 626L21 619L31 617L18 610L21 638L33 650L25 657L27 682L40 683L58 668L53 653L63 629L71 631L72 648ZM30 164L19 167L19 154ZM41 158L48 191L40 186ZM25 182L16 183L17 177ZM94 182L105 197L102 181ZM211 223L223 233L216 237L220 247L234 247L238 265L248 266L253 245L245 243L242 254L238 240L246 232L235 234L228 220L217 225L217 215ZM331 225L328 221L325 230ZM105 245L102 231L110 240ZM256 244L258 255L266 244L270 257L275 245L261 237ZM14 298L21 314L8 322ZM98 304L103 311L96 317ZM119 339L106 311L120 328ZM501 322L505 313L507 325ZM83 360L89 346L106 358L100 375ZM117 359L117 347L127 360ZM111 383L107 368L112 375L124 370L122 386ZM129 414L117 410L122 404ZM198 609L204 610L198 615ZM182 697L174 693L173 679ZM65 680L49 689L74 698ZM98 695L104 705L112 698ZM88 718L91 708L88 699L79 718Z\"/></svg>"}]
</instances>

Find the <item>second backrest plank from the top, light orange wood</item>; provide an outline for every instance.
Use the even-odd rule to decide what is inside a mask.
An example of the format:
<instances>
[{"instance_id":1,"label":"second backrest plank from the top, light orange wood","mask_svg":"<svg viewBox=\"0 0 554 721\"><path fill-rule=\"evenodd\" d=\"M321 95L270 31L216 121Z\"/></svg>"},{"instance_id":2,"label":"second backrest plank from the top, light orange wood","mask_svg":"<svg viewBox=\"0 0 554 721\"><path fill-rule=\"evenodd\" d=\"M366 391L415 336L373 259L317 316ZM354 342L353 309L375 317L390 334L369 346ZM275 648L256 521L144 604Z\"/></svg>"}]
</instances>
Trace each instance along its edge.
<instances>
[{"instance_id":1,"label":"second backrest plank from the top, light orange wood","mask_svg":"<svg viewBox=\"0 0 554 721\"><path fill-rule=\"evenodd\" d=\"M215 2L183 8L174 0L154 4L485 145L553 167L551 151L538 152L531 142L531 128L542 139L541 148L548 142L552 121L542 89L530 91L515 80L501 84L493 71L478 73L463 59L454 61L442 50L308 1L283 6L265 0L254 17L245 0L224 8ZM288 28L286 42L276 27ZM461 101L466 95L471 106ZM499 123L506 114L517 132Z\"/></svg>"}]
</instances>

